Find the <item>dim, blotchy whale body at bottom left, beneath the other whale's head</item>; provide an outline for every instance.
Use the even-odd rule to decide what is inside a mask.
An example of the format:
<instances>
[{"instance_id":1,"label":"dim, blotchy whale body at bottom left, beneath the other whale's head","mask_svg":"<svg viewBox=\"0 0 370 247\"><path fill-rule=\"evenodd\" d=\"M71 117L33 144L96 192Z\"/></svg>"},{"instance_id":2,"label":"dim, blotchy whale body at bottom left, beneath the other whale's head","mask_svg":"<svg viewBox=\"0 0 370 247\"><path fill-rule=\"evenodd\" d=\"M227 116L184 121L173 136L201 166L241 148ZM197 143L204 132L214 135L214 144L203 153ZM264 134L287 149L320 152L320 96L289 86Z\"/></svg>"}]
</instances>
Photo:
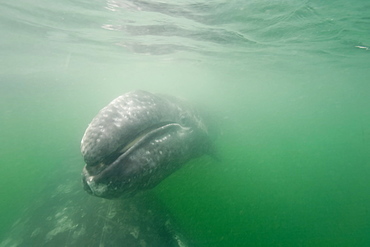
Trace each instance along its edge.
<instances>
[{"instance_id":1,"label":"dim, blotchy whale body at bottom left, beneath the other whale's head","mask_svg":"<svg viewBox=\"0 0 370 247\"><path fill-rule=\"evenodd\" d=\"M44 189L9 229L0 247L189 247L195 243L152 191L106 200L81 190L81 157L66 154Z\"/></svg>"}]
</instances>

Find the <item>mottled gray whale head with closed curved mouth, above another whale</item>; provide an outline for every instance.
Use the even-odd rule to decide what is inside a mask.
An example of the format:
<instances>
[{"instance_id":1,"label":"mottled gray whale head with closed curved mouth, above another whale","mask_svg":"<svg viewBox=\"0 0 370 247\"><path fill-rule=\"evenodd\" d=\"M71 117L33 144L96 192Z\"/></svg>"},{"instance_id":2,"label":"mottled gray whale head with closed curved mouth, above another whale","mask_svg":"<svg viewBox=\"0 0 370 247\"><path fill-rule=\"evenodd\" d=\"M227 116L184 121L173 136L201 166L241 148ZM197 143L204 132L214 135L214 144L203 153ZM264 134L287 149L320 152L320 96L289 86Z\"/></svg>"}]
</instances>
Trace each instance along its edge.
<instances>
[{"instance_id":1,"label":"mottled gray whale head with closed curved mouth, above another whale","mask_svg":"<svg viewBox=\"0 0 370 247\"><path fill-rule=\"evenodd\" d=\"M97 114L82 138L85 190L116 198L155 187L207 152L204 123L197 110L174 97L145 91L119 96Z\"/></svg>"}]
</instances>

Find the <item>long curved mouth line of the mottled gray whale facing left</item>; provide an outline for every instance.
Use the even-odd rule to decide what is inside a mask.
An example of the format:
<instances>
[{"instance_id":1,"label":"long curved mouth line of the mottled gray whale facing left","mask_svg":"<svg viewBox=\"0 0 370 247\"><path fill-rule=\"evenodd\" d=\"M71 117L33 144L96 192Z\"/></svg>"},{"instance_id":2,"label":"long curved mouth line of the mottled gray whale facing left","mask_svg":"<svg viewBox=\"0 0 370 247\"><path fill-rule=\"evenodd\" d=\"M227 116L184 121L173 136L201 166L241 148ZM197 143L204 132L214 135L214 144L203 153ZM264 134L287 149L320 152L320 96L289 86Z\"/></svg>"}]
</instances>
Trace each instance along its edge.
<instances>
[{"instance_id":1,"label":"long curved mouth line of the mottled gray whale facing left","mask_svg":"<svg viewBox=\"0 0 370 247\"><path fill-rule=\"evenodd\" d=\"M107 155L101 162L97 164L86 164L84 176L94 177L99 175L117 160L122 160L126 156L129 156L134 150L140 148L143 143L155 140L157 136L160 136L165 132L170 132L175 128L187 129L175 122L163 122L148 127L139 132L132 140L125 141L126 144L122 145L122 147L117 149L115 152Z\"/></svg>"}]
</instances>

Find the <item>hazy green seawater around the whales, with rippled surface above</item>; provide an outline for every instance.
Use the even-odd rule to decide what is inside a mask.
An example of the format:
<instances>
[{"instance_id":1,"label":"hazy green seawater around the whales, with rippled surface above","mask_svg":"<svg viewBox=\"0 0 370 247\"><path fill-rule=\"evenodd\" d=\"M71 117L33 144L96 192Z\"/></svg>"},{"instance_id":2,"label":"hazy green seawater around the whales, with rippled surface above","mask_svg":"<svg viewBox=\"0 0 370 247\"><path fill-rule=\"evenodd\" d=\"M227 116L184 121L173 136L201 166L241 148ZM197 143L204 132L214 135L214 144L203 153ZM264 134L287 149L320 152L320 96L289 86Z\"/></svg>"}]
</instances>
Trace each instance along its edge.
<instances>
[{"instance_id":1,"label":"hazy green seawater around the whales, with rippled surface above","mask_svg":"<svg viewBox=\"0 0 370 247\"><path fill-rule=\"evenodd\" d=\"M132 89L218 116L155 190L196 246L370 245L368 1L1 3L0 236Z\"/></svg>"}]
</instances>

